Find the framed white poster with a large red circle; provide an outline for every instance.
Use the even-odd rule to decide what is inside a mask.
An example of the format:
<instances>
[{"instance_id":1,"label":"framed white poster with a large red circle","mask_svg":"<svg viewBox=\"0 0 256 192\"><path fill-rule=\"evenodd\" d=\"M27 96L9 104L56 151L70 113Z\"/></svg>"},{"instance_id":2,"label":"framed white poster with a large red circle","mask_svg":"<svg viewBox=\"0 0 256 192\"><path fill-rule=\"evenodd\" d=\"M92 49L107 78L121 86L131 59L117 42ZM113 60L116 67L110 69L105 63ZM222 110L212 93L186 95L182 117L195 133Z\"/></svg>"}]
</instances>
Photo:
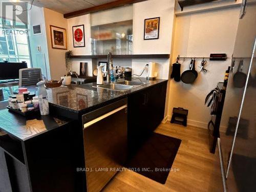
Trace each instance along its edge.
<instances>
[{"instance_id":1,"label":"framed white poster with a large red circle","mask_svg":"<svg viewBox=\"0 0 256 192\"><path fill-rule=\"evenodd\" d=\"M84 42L84 25L73 26L72 29L74 47L86 47Z\"/></svg>"}]
</instances>

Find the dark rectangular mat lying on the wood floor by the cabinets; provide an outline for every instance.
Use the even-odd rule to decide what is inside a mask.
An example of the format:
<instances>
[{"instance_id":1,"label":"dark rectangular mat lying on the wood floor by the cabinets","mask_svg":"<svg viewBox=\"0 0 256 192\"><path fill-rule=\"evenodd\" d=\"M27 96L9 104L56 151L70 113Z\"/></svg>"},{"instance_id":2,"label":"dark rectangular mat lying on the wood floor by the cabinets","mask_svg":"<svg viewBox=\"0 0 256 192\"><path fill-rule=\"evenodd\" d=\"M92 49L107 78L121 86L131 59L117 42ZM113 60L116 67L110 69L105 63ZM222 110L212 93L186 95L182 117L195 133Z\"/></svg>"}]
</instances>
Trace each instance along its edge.
<instances>
[{"instance_id":1,"label":"dark rectangular mat lying on the wood floor by the cabinets","mask_svg":"<svg viewBox=\"0 0 256 192\"><path fill-rule=\"evenodd\" d=\"M172 168L181 140L153 133L130 157L127 168L164 184Z\"/></svg>"}]
</instances>

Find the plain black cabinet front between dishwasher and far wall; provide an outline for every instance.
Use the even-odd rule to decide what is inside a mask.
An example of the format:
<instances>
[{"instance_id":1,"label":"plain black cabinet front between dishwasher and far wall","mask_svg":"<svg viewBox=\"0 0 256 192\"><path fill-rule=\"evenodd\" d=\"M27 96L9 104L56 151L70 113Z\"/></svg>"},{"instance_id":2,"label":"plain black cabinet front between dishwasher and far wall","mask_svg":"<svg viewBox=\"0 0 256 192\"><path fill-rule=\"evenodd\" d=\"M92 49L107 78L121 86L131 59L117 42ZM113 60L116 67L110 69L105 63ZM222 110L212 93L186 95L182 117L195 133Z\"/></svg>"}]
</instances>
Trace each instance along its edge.
<instances>
[{"instance_id":1,"label":"plain black cabinet front between dishwasher and far wall","mask_svg":"<svg viewBox=\"0 0 256 192\"><path fill-rule=\"evenodd\" d=\"M128 141L134 150L164 118L167 81L128 97Z\"/></svg>"}]
</instances>

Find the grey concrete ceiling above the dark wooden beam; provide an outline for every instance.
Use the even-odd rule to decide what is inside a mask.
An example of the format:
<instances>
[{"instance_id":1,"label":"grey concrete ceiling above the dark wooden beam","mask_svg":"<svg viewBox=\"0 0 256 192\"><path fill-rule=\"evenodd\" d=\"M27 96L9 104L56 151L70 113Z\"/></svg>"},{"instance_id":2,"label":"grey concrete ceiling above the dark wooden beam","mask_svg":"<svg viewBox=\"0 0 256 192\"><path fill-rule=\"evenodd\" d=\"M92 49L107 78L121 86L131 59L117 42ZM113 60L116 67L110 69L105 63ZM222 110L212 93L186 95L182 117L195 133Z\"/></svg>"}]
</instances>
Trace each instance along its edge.
<instances>
[{"instance_id":1,"label":"grey concrete ceiling above the dark wooden beam","mask_svg":"<svg viewBox=\"0 0 256 192\"><path fill-rule=\"evenodd\" d=\"M33 5L46 7L65 14L115 1L116 0L35 0Z\"/></svg>"}]
</instances>

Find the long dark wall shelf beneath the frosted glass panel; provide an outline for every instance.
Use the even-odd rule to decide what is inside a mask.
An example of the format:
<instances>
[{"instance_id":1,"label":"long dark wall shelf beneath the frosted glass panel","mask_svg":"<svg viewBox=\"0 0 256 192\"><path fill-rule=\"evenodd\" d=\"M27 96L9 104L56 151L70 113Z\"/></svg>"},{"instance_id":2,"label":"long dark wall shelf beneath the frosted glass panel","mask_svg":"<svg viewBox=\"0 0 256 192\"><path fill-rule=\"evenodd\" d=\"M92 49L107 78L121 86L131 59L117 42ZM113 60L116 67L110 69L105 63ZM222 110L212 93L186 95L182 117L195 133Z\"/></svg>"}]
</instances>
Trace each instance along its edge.
<instances>
[{"instance_id":1,"label":"long dark wall shelf beneath the frosted glass panel","mask_svg":"<svg viewBox=\"0 0 256 192\"><path fill-rule=\"evenodd\" d=\"M118 59L135 59L135 58L165 58L168 59L169 54L135 54L135 55L112 55L112 58ZM106 55L72 55L71 58L79 59L98 59L106 58Z\"/></svg>"}]
</instances>

